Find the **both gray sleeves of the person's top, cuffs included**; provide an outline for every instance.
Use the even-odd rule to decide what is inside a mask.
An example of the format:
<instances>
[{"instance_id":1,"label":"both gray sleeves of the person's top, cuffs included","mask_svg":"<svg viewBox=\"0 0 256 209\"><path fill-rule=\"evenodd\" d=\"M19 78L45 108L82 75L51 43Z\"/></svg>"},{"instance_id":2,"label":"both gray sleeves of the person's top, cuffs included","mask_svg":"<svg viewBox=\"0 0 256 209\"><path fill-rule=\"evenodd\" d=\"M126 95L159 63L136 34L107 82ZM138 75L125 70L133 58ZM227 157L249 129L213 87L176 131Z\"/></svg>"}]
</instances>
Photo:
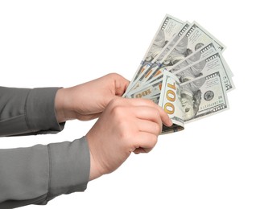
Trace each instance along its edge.
<instances>
[{"instance_id":1,"label":"both gray sleeves of the person's top, cuffs included","mask_svg":"<svg viewBox=\"0 0 256 209\"><path fill-rule=\"evenodd\" d=\"M57 90L0 87L0 137L64 129L64 123L56 121ZM0 149L0 208L46 204L58 195L85 191L89 168L85 137L72 142Z\"/></svg>"}]
</instances>

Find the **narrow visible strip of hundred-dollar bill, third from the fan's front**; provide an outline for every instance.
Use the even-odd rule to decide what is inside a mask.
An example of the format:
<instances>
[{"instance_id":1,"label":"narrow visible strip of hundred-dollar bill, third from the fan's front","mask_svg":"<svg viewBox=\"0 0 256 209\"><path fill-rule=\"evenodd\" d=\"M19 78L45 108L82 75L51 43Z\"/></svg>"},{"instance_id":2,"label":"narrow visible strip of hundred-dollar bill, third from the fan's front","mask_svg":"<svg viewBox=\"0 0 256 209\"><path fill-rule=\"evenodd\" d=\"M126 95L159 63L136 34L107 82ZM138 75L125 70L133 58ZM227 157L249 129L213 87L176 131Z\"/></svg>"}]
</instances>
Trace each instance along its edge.
<instances>
[{"instance_id":1,"label":"narrow visible strip of hundred-dollar bill, third from the fan's front","mask_svg":"<svg viewBox=\"0 0 256 209\"><path fill-rule=\"evenodd\" d=\"M152 73L151 76L148 77L147 82L144 85L154 82L155 80L159 80L163 78L163 70L167 70L168 72L174 73L179 71L182 68L187 67L190 64L195 63L196 61L203 59L206 56L212 55L217 52L217 46L214 43L209 43L207 46L197 49L192 54L188 55L183 61L180 61L173 66L168 66L166 68L159 68L158 71Z\"/></svg>"}]
</instances>

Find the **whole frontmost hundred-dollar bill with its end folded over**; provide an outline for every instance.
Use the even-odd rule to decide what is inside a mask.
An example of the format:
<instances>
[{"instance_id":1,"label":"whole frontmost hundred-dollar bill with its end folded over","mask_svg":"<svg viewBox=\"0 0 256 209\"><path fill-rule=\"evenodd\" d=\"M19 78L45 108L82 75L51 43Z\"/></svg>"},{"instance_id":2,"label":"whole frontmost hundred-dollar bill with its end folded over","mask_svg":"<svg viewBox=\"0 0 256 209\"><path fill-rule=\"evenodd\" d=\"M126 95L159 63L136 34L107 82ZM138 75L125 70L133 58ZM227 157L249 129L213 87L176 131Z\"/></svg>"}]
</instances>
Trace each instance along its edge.
<instances>
[{"instance_id":1,"label":"whole frontmost hundred-dollar bill with its end folded over","mask_svg":"<svg viewBox=\"0 0 256 209\"><path fill-rule=\"evenodd\" d=\"M229 102L220 72L181 84L171 72L163 72L163 88L159 106L171 118L173 125L163 125L162 133L183 130L184 123L221 113Z\"/></svg>"}]
</instances>

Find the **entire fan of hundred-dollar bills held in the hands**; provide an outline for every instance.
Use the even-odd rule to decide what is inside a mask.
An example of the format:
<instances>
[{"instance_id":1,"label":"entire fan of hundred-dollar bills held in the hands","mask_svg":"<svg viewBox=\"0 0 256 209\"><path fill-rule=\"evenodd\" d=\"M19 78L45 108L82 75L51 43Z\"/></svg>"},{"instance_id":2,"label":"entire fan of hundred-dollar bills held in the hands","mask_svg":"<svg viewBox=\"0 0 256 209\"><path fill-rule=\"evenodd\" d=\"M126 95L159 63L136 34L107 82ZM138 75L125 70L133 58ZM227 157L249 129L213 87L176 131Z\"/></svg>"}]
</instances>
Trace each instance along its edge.
<instances>
[{"instance_id":1,"label":"entire fan of hundred-dollar bills held in the hands","mask_svg":"<svg viewBox=\"0 0 256 209\"><path fill-rule=\"evenodd\" d=\"M162 133L229 109L227 92L234 85L224 49L198 23L166 14L124 97L159 104L173 122Z\"/></svg>"}]
</instances>

